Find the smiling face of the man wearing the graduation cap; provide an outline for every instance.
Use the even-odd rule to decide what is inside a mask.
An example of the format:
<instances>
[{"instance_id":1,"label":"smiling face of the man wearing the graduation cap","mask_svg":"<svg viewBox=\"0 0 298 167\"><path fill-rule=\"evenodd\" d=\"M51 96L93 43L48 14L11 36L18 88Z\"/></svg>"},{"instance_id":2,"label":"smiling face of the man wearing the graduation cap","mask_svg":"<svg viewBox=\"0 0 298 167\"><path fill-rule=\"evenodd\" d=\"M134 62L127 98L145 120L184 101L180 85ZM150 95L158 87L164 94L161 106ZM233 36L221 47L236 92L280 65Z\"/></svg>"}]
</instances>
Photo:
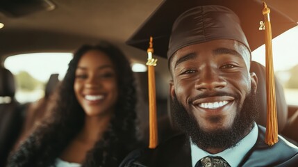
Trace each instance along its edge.
<instances>
[{"instance_id":1,"label":"smiling face of the man wearing the graduation cap","mask_svg":"<svg viewBox=\"0 0 298 167\"><path fill-rule=\"evenodd\" d=\"M245 97L256 91L249 53L233 40L213 40L176 51L170 61L172 98L205 132L231 129Z\"/></svg>"}]
</instances>

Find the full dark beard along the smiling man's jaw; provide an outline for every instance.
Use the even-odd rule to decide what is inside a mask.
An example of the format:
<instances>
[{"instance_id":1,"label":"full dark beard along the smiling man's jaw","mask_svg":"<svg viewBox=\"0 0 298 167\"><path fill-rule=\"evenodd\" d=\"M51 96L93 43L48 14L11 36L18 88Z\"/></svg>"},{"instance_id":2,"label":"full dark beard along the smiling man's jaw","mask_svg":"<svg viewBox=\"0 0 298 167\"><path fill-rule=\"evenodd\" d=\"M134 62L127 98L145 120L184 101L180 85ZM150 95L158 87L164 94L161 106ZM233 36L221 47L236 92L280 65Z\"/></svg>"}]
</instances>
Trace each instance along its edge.
<instances>
[{"instance_id":1,"label":"full dark beard along the smiling man's jaw","mask_svg":"<svg viewBox=\"0 0 298 167\"><path fill-rule=\"evenodd\" d=\"M172 118L174 124L185 134L190 136L192 142L204 150L210 148L233 148L247 132L250 131L254 120L258 117L256 93L249 93L237 107L233 125L229 129L218 129L207 132L197 123L196 118L185 110L182 104L174 97L172 102ZM240 111L239 111L240 110Z\"/></svg>"}]
</instances>

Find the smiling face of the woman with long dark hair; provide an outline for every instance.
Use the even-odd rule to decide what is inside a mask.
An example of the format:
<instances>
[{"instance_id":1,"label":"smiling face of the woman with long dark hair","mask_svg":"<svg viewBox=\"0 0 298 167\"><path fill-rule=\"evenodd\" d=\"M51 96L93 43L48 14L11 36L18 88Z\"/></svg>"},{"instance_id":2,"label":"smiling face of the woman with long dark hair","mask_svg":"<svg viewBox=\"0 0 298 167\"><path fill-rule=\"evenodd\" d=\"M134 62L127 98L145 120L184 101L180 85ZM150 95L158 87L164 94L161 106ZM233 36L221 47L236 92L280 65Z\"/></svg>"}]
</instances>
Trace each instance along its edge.
<instances>
[{"instance_id":1,"label":"smiling face of the woman with long dark hair","mask_svg":"<svg viewBox=\"0 0 298 167\"><path fill-rule=\"evenodd\" d=\"M87 51L78 61L74 92L87 116L113 113L118 97L117 75L110 58L101 51Z\"/></svg>"}]
</instances>

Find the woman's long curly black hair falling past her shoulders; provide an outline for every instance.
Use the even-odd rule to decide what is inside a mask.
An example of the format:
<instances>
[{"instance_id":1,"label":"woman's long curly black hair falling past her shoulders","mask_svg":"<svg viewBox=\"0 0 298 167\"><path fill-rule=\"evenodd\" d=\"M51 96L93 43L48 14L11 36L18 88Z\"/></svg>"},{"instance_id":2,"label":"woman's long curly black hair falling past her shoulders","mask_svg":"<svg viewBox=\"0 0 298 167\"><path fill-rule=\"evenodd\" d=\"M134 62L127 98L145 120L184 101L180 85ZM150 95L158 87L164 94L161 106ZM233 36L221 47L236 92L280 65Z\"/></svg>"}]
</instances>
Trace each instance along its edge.
<instances>
[{"instance_id":1,"label":"woman's long curly black hair falling past her shoulders","mask_svg":"<svg viewBox=\"0 0 298 167\"><path fill-rule=\"evenodd\" d=\"M86 154L83 166L119 166L125 155L134 149L137 139L133 72L122 51L102 41L94 46L84 45L76 51L60 84L50 116L44 118L33 134L13 152L8 160L8 166L54 166L55 159L81 130L85 113L74 95L74 79L78 61L91 49L104 52L114 63L119 97L108 129L95 143L94 148Z\"/></svg>"}]
</instances>

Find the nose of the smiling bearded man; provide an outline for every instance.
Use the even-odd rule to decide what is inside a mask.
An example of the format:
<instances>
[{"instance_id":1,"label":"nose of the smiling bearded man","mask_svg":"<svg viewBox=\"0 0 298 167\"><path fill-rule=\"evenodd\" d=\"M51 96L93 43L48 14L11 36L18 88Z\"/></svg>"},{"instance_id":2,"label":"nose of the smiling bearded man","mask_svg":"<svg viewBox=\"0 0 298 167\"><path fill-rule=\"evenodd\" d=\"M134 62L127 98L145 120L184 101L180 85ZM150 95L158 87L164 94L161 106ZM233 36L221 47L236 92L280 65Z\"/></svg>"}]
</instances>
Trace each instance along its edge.
<instances>
[{"instance_id":1,"label":"nose of the smiling bearded man","mask_svg":"<svg viewBox=\"0 0 298 167\"><path fill-rule=\"evenodd\" d=\"M205 66L199 72L195 88L197 90L214 90L221 89L226 86L226 81L220 76L217 67Z\"/></svg>"}]
</instances>

